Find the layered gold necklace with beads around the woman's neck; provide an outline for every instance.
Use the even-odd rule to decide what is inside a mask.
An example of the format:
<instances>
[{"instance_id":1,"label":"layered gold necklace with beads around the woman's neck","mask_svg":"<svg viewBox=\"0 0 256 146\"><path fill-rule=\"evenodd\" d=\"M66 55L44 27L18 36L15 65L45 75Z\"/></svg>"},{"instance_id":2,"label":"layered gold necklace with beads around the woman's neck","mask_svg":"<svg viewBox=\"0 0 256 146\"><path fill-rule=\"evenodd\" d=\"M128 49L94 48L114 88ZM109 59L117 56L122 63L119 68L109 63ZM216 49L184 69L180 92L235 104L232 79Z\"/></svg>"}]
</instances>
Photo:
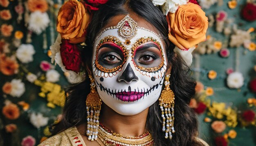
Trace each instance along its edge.
<instances>
[{"instance_id":1,"label":"layered gold necklace with beads around the woman's neck","mask_svg":"<svg viewBox=\"0 0 256 146\"><path fill-rule=\"evenodd\" d=\"M99 139L105 146L150 146L154 139L149 132L139 136L124 136L108 130L101 123L99 124Z\"/></svg>"}]
</instances>

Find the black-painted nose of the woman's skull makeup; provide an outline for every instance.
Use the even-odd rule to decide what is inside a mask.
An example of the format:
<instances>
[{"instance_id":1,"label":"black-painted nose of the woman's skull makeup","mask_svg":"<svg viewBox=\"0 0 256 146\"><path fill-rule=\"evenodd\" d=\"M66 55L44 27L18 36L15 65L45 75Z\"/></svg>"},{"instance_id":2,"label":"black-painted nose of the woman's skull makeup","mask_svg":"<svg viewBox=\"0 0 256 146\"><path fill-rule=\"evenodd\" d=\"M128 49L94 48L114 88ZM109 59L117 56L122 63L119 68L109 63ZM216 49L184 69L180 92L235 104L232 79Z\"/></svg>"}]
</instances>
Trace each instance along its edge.
<instances>
[{"instance_id":1,"label":"black-painted nose of the woman's skull makeup","mask_svg":"<svg viewBox=\"0 0 256 146\"><path fill-rule=\"evenodd\" d=\"M126 66L126 69L122 73L121 76L117 79L119 82L124 81L126 83L130 83L132 81L138 81L138 77L135 75L135 73L132 70L132 67L130 66L130 63Z\"/></svg>"}]
</instances>

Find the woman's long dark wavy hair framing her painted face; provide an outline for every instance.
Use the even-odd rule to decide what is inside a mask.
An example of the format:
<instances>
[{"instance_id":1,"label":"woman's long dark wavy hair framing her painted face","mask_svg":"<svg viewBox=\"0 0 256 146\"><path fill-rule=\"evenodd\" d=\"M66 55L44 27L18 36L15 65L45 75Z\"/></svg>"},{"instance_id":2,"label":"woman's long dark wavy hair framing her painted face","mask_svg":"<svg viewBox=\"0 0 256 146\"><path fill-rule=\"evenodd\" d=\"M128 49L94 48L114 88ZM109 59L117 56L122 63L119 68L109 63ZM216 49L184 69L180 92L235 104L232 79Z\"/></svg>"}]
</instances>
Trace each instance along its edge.
<instances>
[{"instance_id":1,"label":"woman's long dark wavy hair framing her painted face","mask_svg":"<svg viewBox=\"0 0 256 146\"><path fill-rule=\"evenodd\" d=\"M195 94L196 83L189 77L189 68L184 61L173 52L174 45L168 40L168 23L162 11L153 5L151 0L109 0L93 13L89 25L86 44L83 49L83 61L91 64L94 39L111 18L117 15L135 14L143 18L157 29L166 43L168 64L171 65L171 89L175 93L175 134L173 139L165 139L162 131L162 118L159 102L149 108L146 127L153 136L155 146L201 146L196 139L198 122L195 114L189 107L191 97ZM90 63L88 63L90 62ZM90 92L90 82L85 81L67 88L63 118L54 125L52 134L55 135L71 126L85 122L85 100Z\"/></svg>"}]
</instances>

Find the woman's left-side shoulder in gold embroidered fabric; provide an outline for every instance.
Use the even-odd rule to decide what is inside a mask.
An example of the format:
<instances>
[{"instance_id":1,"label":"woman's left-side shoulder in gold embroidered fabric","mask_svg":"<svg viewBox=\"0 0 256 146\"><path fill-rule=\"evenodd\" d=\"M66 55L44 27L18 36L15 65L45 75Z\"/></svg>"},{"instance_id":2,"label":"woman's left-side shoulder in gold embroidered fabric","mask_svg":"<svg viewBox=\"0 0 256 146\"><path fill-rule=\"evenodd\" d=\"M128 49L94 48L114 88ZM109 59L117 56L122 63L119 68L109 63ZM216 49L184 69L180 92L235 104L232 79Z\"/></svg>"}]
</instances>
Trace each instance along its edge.
<instances>
[{"instance_id":1,"label":"woman's left-side shoulder in gold embroidered fabric","mask_svg":"<svg viewBox=\"0 0 256 146\"><path fill-rule=\"evenodd\" d=\"M54 135L38 146L85 146L83 139L76 127L71 127L65 131Z\"/></svg>"}]
</instances>

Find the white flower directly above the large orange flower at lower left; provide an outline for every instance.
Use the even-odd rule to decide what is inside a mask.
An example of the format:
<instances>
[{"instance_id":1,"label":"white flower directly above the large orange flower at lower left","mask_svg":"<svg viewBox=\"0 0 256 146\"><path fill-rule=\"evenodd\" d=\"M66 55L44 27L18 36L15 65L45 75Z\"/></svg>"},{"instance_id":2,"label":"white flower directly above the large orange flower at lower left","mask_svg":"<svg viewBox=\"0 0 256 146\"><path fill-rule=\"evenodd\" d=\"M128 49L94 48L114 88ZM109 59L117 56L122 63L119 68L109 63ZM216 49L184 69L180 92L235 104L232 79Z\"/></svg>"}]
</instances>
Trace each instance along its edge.
<instances>
[{"instance_id":1,"label":"white flower directly above the large orange flower at lower left","mask_svg":"<svg viewBox=\"0 0 256 146\"><path fill-rule=\"evenodd\" d=\"M25 84L20 79L11 80L11 96L20 97L24 92Z\"/></svg>"}]
</instances>

